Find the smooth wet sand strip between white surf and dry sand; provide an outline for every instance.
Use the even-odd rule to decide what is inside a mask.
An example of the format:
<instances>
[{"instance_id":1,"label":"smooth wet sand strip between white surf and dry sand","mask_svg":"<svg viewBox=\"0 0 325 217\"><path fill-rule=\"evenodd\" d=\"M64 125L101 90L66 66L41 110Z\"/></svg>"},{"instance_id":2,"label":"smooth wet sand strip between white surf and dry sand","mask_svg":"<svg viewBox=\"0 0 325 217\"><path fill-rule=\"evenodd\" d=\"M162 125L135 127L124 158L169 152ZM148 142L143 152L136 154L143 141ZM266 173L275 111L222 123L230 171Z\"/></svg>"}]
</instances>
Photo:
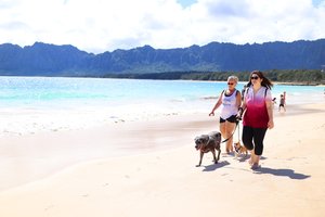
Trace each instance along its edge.
<instances>
[{"instance_id":1,"label":"smooth wet sand strip between white surf and dry sand","mask_svg":"<svg viewBox=\"0 0 325 217\"><path fill-rule=\"evenodd\" d=\"M192 144L195 133L206 133L205 128L212 129L217 124L217 118L207 114L171 114L164 118L108 123L92 128L5 135L0 138L3 167L0 192L88 161Z\"/></svg>"}]
</instances>

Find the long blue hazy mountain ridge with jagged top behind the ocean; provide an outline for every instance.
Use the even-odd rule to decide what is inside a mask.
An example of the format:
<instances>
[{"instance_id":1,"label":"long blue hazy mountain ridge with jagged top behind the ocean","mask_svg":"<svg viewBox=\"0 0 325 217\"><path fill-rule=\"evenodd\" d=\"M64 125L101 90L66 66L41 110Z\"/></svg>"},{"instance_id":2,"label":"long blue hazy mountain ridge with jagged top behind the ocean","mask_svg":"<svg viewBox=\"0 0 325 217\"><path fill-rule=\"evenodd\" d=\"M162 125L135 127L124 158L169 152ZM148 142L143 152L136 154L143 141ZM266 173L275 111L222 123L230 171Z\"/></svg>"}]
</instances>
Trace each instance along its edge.
<instances>
[{"instance_id":1,"label":"long blue hazy mountain ridge with jagged top behind the ocean","mask_svg":"<svg viewBox=\"0 0 325 217\"><path fill-rule=\"evenodd\" d=\"M325 39L235 44L212 41L205 46L117 49L99 54L72 44L35 42L0 44L0 75L103 76L166 72L224 72L252 69L316 69L325 66Z\"/></svg>"}]
</instances>

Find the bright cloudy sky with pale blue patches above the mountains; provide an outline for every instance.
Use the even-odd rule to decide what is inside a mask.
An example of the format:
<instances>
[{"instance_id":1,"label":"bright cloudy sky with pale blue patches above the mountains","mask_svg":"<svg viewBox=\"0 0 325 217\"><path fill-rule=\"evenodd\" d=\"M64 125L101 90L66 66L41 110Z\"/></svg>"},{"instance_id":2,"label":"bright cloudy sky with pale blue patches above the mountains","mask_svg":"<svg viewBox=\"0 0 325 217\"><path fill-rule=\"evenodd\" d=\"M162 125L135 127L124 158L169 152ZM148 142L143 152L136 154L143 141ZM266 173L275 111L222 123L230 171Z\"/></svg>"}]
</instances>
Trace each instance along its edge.
<instances>
[{"instance_id":1,"label":"bright cloudy sky with pale blue patches above the mountains","mask_svg":"<svg viewBox=\"0 0 325 217\"><path fill-rule=\"evenodd\" d=\"M0 0L0 44L102 53L325 38L325 0Z\"/></svg>"}]
</instances>

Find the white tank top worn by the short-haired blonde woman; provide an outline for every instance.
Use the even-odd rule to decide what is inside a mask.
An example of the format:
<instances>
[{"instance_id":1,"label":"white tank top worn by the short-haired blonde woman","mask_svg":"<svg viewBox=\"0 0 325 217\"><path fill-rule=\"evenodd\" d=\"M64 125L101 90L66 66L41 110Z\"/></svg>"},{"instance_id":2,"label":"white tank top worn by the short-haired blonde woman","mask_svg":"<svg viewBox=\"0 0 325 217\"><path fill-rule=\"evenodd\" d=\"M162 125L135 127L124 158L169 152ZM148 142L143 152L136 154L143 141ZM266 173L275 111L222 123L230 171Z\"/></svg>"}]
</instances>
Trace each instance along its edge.
<instances>
[{"instance_id":1,"label":"white tank top worn by the short-haired blonde woman","mask_svg":"<svg viewBox=\"0 0 325 217\"><path fill-rule=\"evenodd\" d=\"M221 99L222 106L221 106L221 114L220 114L220 117L222 119L226 119L232 115L237 115L238 112L238 107L236 105L237 91L238 90L235 89L235 91L231 95L225 95L225 90L223 91L222 99Z\"/></svg>"}]
</instances>

